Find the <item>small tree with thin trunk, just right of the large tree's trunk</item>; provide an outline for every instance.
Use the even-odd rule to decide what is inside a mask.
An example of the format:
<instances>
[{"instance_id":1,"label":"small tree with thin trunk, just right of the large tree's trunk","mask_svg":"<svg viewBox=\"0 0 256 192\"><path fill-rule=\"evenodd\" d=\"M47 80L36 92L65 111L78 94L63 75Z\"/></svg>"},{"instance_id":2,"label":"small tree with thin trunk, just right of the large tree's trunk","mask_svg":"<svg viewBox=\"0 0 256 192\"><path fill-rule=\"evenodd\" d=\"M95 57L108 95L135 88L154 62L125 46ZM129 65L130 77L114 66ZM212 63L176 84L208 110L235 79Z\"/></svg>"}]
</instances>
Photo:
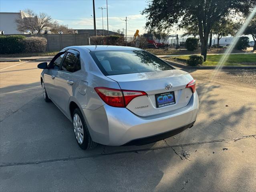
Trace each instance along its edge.
<instances>
[{"instance_id":1,"label":"small tree with thin trunk, just right of the large tree's trunk","mask_svg":"<svg viewBox=\"0 0 256 192\"><path fill-rule=\"evenodd\" d=\"M234 24L232 20L223 18L222 20L215 22L212 26L212 34L217 36L217 46L220 45L220 39L224 36L233 34Z\"/></svg>"}]
</instances>

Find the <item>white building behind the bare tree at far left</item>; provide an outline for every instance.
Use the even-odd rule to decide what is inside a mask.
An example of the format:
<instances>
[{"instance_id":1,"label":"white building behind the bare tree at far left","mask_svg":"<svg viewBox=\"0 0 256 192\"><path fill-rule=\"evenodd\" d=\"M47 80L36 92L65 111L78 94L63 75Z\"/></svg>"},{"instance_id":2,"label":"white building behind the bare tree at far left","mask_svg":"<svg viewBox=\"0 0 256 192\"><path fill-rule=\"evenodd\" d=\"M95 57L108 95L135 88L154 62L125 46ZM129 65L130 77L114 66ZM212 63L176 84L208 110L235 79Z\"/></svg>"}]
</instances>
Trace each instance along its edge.
<instances>
[{"instance_id":1,"label":"white building behind the bare tree at far left","mask_svg":"<svg viewBox=\"0 0 256 192\"><path fill-rule=\"evenodd\" d=\"M16 18L21 17L21 12L0 12L0 31L4 34L25 34L17 30Z\"/></svg>"}]
</instances>

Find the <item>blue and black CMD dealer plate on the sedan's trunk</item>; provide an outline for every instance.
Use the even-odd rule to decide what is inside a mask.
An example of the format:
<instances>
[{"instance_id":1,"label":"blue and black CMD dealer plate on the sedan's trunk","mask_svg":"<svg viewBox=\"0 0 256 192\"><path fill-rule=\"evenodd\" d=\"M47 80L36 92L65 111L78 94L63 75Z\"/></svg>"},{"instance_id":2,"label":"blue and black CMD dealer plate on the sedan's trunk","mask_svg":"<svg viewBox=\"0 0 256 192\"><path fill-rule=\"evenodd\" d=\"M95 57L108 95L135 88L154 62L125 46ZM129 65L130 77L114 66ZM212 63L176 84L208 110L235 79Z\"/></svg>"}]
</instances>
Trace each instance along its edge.
<instances>
[{"instance_id":1,"label":"blue and black CMD dealer plate on the sedan's trunk","mask_svg":"<svg viewBox=\"0 0 256 192\"><path fill-rule=\"evenodd\" d=\"M155 94L157 108L175 104L174 91Z\"/></svg>"}]
</instances>

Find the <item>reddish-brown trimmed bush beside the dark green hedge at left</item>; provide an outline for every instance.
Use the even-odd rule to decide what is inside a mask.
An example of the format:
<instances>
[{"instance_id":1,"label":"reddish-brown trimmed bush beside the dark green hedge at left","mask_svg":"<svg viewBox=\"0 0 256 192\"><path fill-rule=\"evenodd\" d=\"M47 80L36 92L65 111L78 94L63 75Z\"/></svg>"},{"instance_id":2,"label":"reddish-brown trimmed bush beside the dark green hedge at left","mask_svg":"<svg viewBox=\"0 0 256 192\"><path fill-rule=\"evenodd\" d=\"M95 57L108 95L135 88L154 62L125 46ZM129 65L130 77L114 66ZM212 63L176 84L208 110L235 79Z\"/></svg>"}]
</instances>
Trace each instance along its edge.
<instances>
[{"instance_id":1,"label":"reddish-brown trimmed bush beside the dark green hedge at left","mask_svg":"<svg viewBox=\"0 0 256 192\"><path fill-rule=\"evenodd\" d=\"M23 40L23 52L45 52L47 48L47 40L42 37L28 37Z\"/></svg>"}]
</instances>

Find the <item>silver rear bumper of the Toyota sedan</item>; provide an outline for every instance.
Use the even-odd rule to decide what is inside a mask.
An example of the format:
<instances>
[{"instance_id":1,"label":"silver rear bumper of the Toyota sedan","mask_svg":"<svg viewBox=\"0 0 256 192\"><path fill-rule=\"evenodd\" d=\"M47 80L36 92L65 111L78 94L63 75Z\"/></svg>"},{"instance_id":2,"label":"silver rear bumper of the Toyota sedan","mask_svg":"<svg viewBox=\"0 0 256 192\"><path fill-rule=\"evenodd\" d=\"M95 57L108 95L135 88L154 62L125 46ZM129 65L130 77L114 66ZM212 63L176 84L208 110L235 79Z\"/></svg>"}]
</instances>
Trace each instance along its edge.
<instances>
[{"instance_id":1,"label":"silver rear bumper of the Toyota sedan","mask_svg":"<svg viewBox=\"0 0 256 192\"><path fill-rule=\"evenodd\" d=\"M168 138L192 126L198 114L198 95L195 92L184 108L148 117L107 104L97 110L84 109L83 112L93 141L110 146L129 142L129 145L136 142L146 144Z\"/></svg>"}]
</instances>

